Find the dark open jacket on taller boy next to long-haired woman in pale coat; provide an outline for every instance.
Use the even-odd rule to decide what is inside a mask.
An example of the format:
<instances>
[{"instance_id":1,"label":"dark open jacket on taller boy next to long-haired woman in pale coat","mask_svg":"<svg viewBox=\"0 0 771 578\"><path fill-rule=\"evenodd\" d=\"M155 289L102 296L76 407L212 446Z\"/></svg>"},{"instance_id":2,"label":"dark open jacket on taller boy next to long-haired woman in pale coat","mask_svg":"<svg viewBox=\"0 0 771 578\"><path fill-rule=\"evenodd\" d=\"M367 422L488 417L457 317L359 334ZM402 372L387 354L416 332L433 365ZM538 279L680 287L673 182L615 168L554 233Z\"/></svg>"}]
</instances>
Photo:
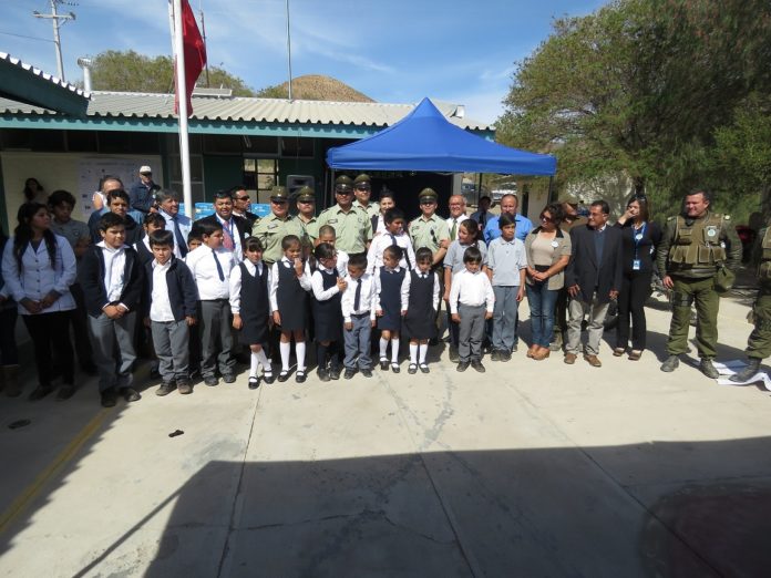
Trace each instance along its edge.
<instances>
[{"instance_id":1,"label":"dark open jacket on taller boy next to long-haired woman in pale coat","mask_svg":"<svg viewBox=\"0 0 771 578\"><path fill-rule=\"evenodd\" d=\"M144 292L145 275L136 251L126 247L125 282L119 301L130 311L140 308ZM85 310L91 317L102 314L102 308L107 305L107 291L104 288L104 254L101 247L91 247L78 267L78 280L83 289Z\"/></svg>"}]
</instances>

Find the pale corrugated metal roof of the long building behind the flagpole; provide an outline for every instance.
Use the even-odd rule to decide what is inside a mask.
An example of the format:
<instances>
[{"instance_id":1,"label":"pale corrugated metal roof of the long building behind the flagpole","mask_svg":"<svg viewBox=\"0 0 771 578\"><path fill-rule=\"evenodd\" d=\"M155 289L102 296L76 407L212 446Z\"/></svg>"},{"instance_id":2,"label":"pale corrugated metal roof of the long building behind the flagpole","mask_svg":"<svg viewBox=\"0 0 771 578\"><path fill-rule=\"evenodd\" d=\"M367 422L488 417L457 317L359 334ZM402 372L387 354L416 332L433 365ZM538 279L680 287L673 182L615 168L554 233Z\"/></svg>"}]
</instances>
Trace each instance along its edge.
<instances>
[{"instance_id":1,"label":"pale corrugated metal roof of the long building behind the flagpole","mask_svg":"<svg viewBox=\"0 0 771 578\"><path fill-rule=\"evenodd\" d=\"M434 102L453 124L467 130L491 131L492 126L464 117L462 106ZM363 102L289 101L243 96L193 96L192 118L219 122L257 122L352 126L390 126L415 104ZM0 114L56 114L47 109L0 99ZM88 116L114 118L175 118L173 94L127 92L91 93Z\"/></svg>"}]
</instances>

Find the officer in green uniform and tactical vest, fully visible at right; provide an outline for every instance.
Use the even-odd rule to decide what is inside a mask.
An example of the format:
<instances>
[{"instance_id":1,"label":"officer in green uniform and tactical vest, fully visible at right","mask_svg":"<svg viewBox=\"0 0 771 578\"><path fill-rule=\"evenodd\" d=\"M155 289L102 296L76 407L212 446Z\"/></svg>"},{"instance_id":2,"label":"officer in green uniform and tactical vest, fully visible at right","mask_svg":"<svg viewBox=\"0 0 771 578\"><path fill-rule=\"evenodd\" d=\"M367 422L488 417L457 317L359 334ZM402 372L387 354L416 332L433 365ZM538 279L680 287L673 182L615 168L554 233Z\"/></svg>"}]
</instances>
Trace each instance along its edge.
<instances>
[{"instance_id":1,"label":"officer in green uniform and tactical vest, fully visible at right","mask_svg":"<svg viewBox=\"0 0 771 578\"><path fill-rule=\"evenodd\" d=\"M680 355L688 351L691 303L696 302L696 344L708 378L717 379L712 364L718 344L720 297L716 281L721 268L736 270L741 260L741 241L730 215L709 210L710 195L703 188L691 190L683 203L683 214L669 217L656 260L661 280L672 290L672 321L661 371L675 371Z\"/></svg>"}]
</instances>

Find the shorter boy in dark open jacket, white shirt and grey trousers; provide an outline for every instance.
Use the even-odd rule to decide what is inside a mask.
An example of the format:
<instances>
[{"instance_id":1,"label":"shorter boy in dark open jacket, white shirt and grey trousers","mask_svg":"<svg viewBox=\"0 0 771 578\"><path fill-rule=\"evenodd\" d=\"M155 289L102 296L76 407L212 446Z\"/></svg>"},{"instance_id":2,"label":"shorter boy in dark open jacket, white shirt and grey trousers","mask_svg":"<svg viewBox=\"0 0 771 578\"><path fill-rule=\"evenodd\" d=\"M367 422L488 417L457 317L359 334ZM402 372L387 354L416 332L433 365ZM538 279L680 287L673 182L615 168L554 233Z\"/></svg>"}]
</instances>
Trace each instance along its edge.
<instances>
[{"instance_id":1,"label":"shorter boy in dark open jacket, white shirt and grey trousers","mask_svg":"<svg viewBox=\"0 0 771 578\"><path fill-rule=\"evenodd\" d=\"M174 233L161 228L147 238L153 260L145 264L146 316L162 380L155 394L167 395L176 388L187 395L193 393L189 328L197 322L198 288L187 265L174 256Z\"/></svg>"}]
</instances>

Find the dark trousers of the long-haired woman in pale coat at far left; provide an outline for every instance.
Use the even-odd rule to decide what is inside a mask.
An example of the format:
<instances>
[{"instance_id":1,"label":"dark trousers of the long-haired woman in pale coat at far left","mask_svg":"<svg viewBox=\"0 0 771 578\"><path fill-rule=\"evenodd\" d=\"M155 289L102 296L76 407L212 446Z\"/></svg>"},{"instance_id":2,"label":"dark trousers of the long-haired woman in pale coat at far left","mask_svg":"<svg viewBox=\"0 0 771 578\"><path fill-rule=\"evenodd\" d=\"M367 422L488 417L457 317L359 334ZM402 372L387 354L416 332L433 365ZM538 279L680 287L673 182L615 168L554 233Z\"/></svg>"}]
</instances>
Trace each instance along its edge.
<instances>
[{"instance_id":1,"label":"dark trousers of the long-haired woman in pale coat at far left","mask_svg":"<svg viewBox=\"0 0 771 578\"><path fill-rule=\"evenodd\" d=\"M51 386L54 362L62 372L64 383L74 383L75 367L70 344L70 311L21 317L32 339L40 385Z\"/></svg>"}]
</instances>

